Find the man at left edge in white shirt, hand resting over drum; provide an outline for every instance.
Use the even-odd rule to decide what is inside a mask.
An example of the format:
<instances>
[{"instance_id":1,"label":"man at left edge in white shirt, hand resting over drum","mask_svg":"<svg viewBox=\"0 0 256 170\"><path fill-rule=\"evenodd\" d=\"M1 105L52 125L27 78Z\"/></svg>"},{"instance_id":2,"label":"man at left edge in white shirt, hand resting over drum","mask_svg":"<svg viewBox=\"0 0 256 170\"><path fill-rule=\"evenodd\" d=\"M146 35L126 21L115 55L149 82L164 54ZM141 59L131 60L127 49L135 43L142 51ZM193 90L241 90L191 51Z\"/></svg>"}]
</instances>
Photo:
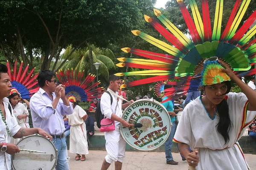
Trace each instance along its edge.
<instances>
[{"instance_id":1,"label":"man at left edge in white shirt, hand resting over drum","mask_svg":"<svg viewBox=\"0 0 256 170\"><path fill-rule=\"evenodd\" d=\"M7 67L0 64L0 170L11 170L11 155L20 152L19 147L10 143L11 137L22 138L23 136L39 133L52 140L52 136L41 128L21 128L18 125L12 108L10 110L8 108L9 99L6 98L10 94L11 87Z\"/></svg>"}]
</instances>

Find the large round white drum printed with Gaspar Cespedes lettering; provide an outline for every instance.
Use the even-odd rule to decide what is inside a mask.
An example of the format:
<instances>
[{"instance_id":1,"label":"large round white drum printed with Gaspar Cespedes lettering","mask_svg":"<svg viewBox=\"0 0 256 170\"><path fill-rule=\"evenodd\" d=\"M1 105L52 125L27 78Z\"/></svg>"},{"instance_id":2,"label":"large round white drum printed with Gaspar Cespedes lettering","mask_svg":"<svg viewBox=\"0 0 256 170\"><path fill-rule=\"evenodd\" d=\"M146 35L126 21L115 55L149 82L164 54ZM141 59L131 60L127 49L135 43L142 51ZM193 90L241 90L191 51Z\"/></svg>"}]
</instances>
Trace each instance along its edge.
<instances>
[{"instance_id":1,"label":"large round white drum printed with Gaspar Cespedes lettering","mask_svg":"<svg viewBox=\"0 0 256 170\"><path fill-rule=\"evenodd\" d=\"M154 150L160 147L171 132L171 119L162 104L154 99L140 99L132 103L122 114L130 124L140 123L142 127L122 127L125 141L138 150Z\"/></svg>"}]
</instances>

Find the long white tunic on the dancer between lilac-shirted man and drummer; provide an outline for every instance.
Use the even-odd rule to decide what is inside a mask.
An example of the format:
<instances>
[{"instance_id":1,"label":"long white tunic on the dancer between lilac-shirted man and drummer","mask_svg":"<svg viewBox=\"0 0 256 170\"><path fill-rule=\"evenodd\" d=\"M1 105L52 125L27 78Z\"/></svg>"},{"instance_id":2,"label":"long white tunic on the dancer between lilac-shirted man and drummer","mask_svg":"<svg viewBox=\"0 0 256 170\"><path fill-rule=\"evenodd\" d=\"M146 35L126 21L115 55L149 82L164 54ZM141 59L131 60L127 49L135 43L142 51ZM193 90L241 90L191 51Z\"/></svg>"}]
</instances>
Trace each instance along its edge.
<instances>
[{"instance_id":1,"label":"long white tunic on the dancer between lilac-shirted man and drummer","mask_svg":"<svg viewBox=\"0 0 256 170\"><path fill-rule=\"evenodd\" d=\"M74 108L73 114L67 115L70 125L70 153L88 154L86 126L82 117L87 113L79 105Z\"/></svg>"}]
</instances>

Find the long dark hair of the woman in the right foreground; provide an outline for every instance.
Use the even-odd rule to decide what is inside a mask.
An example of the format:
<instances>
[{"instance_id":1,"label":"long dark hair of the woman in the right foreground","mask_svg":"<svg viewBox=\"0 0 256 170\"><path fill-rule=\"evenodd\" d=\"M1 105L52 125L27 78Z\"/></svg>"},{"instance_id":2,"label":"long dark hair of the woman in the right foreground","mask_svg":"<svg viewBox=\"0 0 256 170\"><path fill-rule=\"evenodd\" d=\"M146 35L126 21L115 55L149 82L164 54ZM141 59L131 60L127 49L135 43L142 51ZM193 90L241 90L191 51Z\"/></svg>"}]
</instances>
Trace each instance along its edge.
<instances>
[{"instance_id":1,"label":"long dark hair of the woman in the right foreground","mask_svg":"<svg viewBox=\"0 0 256 170\"><path fill-rule=\"evenodd\" d=\"M225 81L224 82L227 85L227 91L225 94L228 94L231 89L231 82ZM223 94L223 95L225 95ZM229 116L229 108L227 105L227 100L223 99L220 104L217 105L217 111L220 117L220 120L216 126L218 133L221 133L221 135L224 137L225 144L229 141L230 137L228 135L231 127L231 121Z\"/></svg>"}]
</instances>

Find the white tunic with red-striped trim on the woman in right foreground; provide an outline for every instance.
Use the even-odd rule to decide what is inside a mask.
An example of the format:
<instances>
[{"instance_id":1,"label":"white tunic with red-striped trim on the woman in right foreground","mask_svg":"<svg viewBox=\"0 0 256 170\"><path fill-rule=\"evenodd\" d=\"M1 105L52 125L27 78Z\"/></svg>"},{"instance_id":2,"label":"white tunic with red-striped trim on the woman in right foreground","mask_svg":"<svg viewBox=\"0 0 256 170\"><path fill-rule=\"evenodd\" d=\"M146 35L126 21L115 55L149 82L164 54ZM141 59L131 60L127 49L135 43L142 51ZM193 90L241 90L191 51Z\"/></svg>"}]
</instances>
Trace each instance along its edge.
<instances>
[{"instance_id":1,"label":"white tunic with red-striped trim on the woman in right foreground","mask_svg":"<svg viewBox=\"0 0 256 170\"><path fill-rule=\"evenodd\" d=\"M192 150L199 150L200 161L196 170L250 170L237 141L256 112L247 112L249 102L243 93L229 93L227 96L232 123L230 140L226 144L217 130L219 117L210 118L200 97L183 110L173 140L188 144Z\"/></svg>"}]
</instances>

